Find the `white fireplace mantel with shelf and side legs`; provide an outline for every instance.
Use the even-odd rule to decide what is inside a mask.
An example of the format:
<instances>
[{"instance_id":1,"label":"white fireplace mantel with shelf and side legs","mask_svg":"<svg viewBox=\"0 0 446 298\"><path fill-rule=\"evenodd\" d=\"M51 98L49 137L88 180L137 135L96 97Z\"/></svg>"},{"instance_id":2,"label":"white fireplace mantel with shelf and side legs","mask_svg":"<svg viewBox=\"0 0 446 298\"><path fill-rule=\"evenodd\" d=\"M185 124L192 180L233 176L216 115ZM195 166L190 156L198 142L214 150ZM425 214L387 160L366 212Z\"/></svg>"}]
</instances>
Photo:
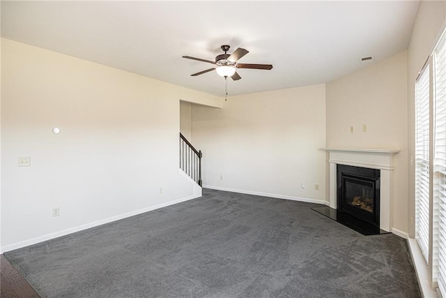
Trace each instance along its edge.
<instances>
[{"instance_id":1,"label":"white fireplace mantel with shelf and side legs","mask_svg":"<svg viewBox=\"0 0 446 298\"><path fill-rule=\"evenodd\" d=\"M323 148L330 153L330 207L337 208L337 165L353 165L380 170L380 228L391 231L390 200L394 149Z\"/></svg>"}]
</instances>

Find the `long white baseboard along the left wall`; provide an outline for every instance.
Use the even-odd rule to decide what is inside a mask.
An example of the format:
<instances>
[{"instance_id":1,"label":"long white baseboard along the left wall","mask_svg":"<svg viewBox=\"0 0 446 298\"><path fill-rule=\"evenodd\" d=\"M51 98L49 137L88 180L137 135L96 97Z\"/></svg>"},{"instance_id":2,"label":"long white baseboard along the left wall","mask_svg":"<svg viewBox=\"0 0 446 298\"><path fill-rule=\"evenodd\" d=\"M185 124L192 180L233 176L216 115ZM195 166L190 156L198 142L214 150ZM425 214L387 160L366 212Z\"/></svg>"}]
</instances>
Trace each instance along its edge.
<instances>
[{"instance_id":1,"label":"long white baseboard along the left wall","mask_svg":"<svg viewBox=\"0 0 446 298\"><path fill-rule=\"evenodd\" d=\"M39 242L47 241L47 240L54 239L54 238L61 237L61 236L66 236L68 234L72 234L72 233L79 232L79 231L82 231L82 230L86 230L86 229L89 229L89 228L97 227L98 225L103 225L105 223L111 223L112 221L118 221L118 220L123 219L123 218L128 218L130 216L143 214L143 213L148 212L148 211L153 211L155 209L160 209L162 207L167 207L167 206L170 206L170 205L173 205L173 204L178 204L180 202L185 202L185 201L192 200L192 199L199 198L199 197L201 197L201 192L198 195L196 193L196 191L194 191L194 195L191 195L190 197L187 197L187 198L180 198L178 200L173 200L173 201L170 201L170 202L157 204L157 205L154 205L154 206L151 206L151 207L146 207L146 208L135 210L135 211L130 211L128 213L119 214L117 216L112 216L112 217L109 217L109 218L105 218L105 219L102 219L100 221L94 221L93 223L86 223L85 225L78 225L75 228L69 228L69 229L66 229L66 230L59 231L59 232L45 234L45 235L40 236L40 237L36 237L36 238L28 239L28 240L25 240L25 241L17 242L15 244L10 244L10 245L7 245L7 246L3 246L1 248L1 253L5 253L7 251L13 251L13 250L15 250L17 248L23 248L25 246L29 246L29 245L33 245L33 244L38 244Z\"/></svg>"}]
</instances>

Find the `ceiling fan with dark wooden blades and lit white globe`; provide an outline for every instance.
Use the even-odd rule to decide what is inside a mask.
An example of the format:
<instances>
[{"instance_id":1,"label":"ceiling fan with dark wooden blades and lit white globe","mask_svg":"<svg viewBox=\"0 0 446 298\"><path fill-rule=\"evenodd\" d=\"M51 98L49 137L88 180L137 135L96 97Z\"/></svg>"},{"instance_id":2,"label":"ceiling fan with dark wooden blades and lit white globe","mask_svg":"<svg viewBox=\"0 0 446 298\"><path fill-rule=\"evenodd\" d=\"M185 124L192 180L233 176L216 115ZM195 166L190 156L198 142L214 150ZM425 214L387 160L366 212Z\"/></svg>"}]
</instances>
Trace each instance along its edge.
<instances>
[{"instance_id":1,"label":"ceiling fan with dark wooden blades and lit white globe","mask_svg":"<svg viewBox=\"0 0 446 298\"><path fill-rule=\"evenodd\" d=\"M215 61L210 61L206 59L200 59L190 56L183 56L183 58L186 59L192 59L202 62L207 62L210 64L214 64L215 67L209 68L203 71L200 71L199 73L192 74L192 77L196 77L197 75L202 75L203 73L208 73L210 71L216 70L218 75L224 77L231 77L232 80L240 80L242 77L238 75L236 72L236 68L252 68L252 69L266 69L270 70L272 68L271 64L240 64L237 63L238 59L245 56L245 54L249 53L247 50L238 47L237 50L235 50L232 54L227 54L229 51L230 46L229 45L222 45L222 50L224 51L224 54L220 54L217 57L215 57Z\"/></svg>"}]
</instances>

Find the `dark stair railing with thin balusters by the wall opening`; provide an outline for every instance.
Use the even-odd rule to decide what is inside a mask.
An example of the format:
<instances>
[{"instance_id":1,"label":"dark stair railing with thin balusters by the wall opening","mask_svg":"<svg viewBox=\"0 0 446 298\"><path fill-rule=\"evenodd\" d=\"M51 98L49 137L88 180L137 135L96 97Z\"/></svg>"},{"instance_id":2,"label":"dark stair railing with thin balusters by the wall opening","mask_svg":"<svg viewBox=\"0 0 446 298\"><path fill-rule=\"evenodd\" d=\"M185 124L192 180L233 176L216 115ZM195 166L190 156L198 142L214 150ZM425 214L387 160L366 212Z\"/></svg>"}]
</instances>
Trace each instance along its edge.
<instances>
[{"instance_id":1,"label":"dark stair railing with thin balusters by the wall opening","mask_svg":"<svg viewBox=\"0 0 446 298\"><path fill-rule=\"evenodd\" d=\"M199 186L203 186L201 181L201 150L197 150L180 133L180 169L189 175Z\"/></svg>"}]
</instances>

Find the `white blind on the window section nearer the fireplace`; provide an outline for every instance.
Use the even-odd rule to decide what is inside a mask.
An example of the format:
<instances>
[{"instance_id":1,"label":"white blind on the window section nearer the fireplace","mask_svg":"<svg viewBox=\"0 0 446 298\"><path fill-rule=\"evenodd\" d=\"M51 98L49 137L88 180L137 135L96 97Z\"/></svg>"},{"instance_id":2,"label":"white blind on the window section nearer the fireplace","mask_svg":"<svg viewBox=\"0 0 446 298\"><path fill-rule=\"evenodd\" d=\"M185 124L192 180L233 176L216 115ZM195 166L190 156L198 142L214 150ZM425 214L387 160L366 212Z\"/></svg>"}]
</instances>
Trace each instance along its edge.
<instances>
[{"instance_id":1,"label":"white blind on the window section nearer the fireplace","mask_svg":"<svg viewBox=\"0 0 446 298\"><path fill-rule=\"evenodd\" d=\"M429 64L415 87L415 238L429 262Z\"/></svg>"}]
</instances>

